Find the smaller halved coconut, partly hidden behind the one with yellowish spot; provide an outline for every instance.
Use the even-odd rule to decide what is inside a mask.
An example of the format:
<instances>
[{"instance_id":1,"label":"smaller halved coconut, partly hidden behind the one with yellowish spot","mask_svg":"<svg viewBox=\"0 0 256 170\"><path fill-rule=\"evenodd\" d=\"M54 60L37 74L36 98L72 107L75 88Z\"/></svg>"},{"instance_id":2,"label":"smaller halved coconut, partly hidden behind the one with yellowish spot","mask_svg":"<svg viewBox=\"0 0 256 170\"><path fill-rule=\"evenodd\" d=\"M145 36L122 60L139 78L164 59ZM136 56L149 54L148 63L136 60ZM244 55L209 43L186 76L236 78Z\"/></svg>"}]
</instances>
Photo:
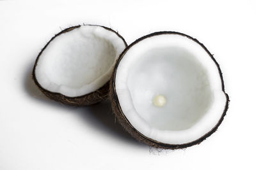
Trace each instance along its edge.
<instances>
[{"instance_id":1,"label":"smaller halved coconut, partly hidden behind the one with yellowish spot","mask_svg":"<svg viewBox=\"0 0 256 170\"><path fill-rule=\"evenodd\" d=\"M77 25L56 34L39 53L33 80L55 101L74 106L106 99L116 59L127 46L117 32Z\"/></svg>"}]
</instances>

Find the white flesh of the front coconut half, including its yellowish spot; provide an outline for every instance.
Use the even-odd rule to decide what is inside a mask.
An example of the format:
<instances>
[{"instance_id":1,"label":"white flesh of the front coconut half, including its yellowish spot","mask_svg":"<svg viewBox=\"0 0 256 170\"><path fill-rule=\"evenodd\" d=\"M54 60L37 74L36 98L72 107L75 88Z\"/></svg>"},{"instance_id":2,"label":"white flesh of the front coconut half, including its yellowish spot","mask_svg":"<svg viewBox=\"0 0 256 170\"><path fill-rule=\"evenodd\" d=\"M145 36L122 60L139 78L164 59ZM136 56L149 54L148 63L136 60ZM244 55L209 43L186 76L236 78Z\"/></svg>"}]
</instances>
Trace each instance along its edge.
<instances>
[{"instance_id":1,"label":"white flesh of the front coconut half, including its yellowish spot","mask_svg":"<svg viewBox=\"0 0 256 170\"><path fill-rule=\"evenodd\" d=\"M131 46L115 77L120 108L143 136L170 145L199 139L223 114L218 67L204 48L179 34Z\"/></svg>"}]
</instances>

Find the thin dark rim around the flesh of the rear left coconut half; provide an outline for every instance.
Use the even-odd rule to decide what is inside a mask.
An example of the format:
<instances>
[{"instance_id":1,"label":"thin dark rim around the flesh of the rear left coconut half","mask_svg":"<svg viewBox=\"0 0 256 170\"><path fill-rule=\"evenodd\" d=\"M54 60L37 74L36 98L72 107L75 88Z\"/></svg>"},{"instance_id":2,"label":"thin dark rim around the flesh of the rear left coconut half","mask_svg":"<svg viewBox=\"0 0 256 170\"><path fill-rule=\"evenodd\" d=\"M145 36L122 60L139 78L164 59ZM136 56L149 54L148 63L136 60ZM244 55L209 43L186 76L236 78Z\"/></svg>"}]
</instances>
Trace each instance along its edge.
<instances>
[{"instance_id":1,"label":"thin dark rim around the flesh of the rear left coconut half","mask_svg":"<svg viewBox=\"0 0 256 170\"><path fill-rule=\"evenodd\" d=\"M88 26L98 26L98 27L102 27L108 31L111 31L113 33L115 33L119 38L122 39L122 41L124 41L124 45L125 47L127 47L127 43L125 42L125 39L120 35L118 34L118 32L114 31L113 29L111 28L108 28L108 27L105 27L105 26L102 26L102 25L93 25L93 24L83 24L84 26L88 25ZM38 53L37 57L36 57L36 60L35 60L35 64L33 66L33 71L32 71L32 77L33 77L33 80L35 81L35 84L39 87L40 90L44 91L44 92L47 92L47 93L50 93L52 95L56 95L56 96L61 96L61 97L65 97L67 99L81 99L85 96L90 96L92 95L93 93L95 93L97 90L99 89L102 89L104 88L106 85L108 85L109 81L107 81L104 85L102 85L102 87L100 87L99 89L93 91L93 92L90 92L88 94L84 94L84 95L81 95L81 96L75 96L75 97L70 97L70 96L65 96L64 94L61 94L59 92L51 92L50 90L47 90L45 89L44 87L42 87L40 85L40 83L38 83L37 79L36 79L36 75L35 75L35 69L36 69L36 66L37 66L37 62L38 62L38 59L39 57L41 56L41 54L44 52L45 48L47 48L47 46L49 45L49 43L51 43L51 41L53 41L57 36L60 36L61 34L64 34L66 32L69 32L69 31L72 31L73 29L77 29L79 27L81 27L82 25L76 25L76 26L71 26L71 27L68 27L66 29L63 29L62 31L58 32L58 34L55 34L47 43L46 45L44 46L44 48L42 48L42 50L40 51L40 53ZM116 59L117 60L117 59Z\"/></svg>"}]
</instances>

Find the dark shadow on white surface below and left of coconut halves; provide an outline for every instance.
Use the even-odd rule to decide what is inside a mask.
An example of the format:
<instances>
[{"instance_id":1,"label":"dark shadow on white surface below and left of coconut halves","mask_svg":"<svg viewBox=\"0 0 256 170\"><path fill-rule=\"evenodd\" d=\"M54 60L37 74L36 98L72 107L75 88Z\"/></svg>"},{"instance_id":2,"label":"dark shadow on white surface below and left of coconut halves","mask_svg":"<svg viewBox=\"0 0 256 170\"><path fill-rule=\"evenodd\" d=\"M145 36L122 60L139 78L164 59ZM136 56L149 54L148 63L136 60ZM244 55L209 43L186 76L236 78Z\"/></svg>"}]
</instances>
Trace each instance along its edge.
<instances>
[{"instance_id":1,"label":"dark shadow on white surface below and left of coconut halves","mask_svg":"<svg viewBox=\"0 0 256 170\"><path fill-rule=\"evenodd\" d=\"M36 87L35 82L32 78L32 70L33 70L34 62L29 64L26 67L26 71L24 74L24 90L25 92L32 97L33 99L44 103L49 104L55 107L65 107L69 110L74 111L78 117L81 117L82 120L86 123L86 125L90 125L99 131L102 131L105 134L109 134L110 136L114 136L115 138L121 139L127 143L131 143L132 145L144 146L143 143L136 141L131 137L128 132L124 130L124 128L115 121L115 115L112 113L111 103L110 101L104 101L99 104L94 104L92 106L84 106L84 107L75 107L68 106L65 104L58 103L56 101L52 101L48 97L46 97L39 89ZM76 109L74 109L76 108Z\"/></svg>"}]
</instances>

